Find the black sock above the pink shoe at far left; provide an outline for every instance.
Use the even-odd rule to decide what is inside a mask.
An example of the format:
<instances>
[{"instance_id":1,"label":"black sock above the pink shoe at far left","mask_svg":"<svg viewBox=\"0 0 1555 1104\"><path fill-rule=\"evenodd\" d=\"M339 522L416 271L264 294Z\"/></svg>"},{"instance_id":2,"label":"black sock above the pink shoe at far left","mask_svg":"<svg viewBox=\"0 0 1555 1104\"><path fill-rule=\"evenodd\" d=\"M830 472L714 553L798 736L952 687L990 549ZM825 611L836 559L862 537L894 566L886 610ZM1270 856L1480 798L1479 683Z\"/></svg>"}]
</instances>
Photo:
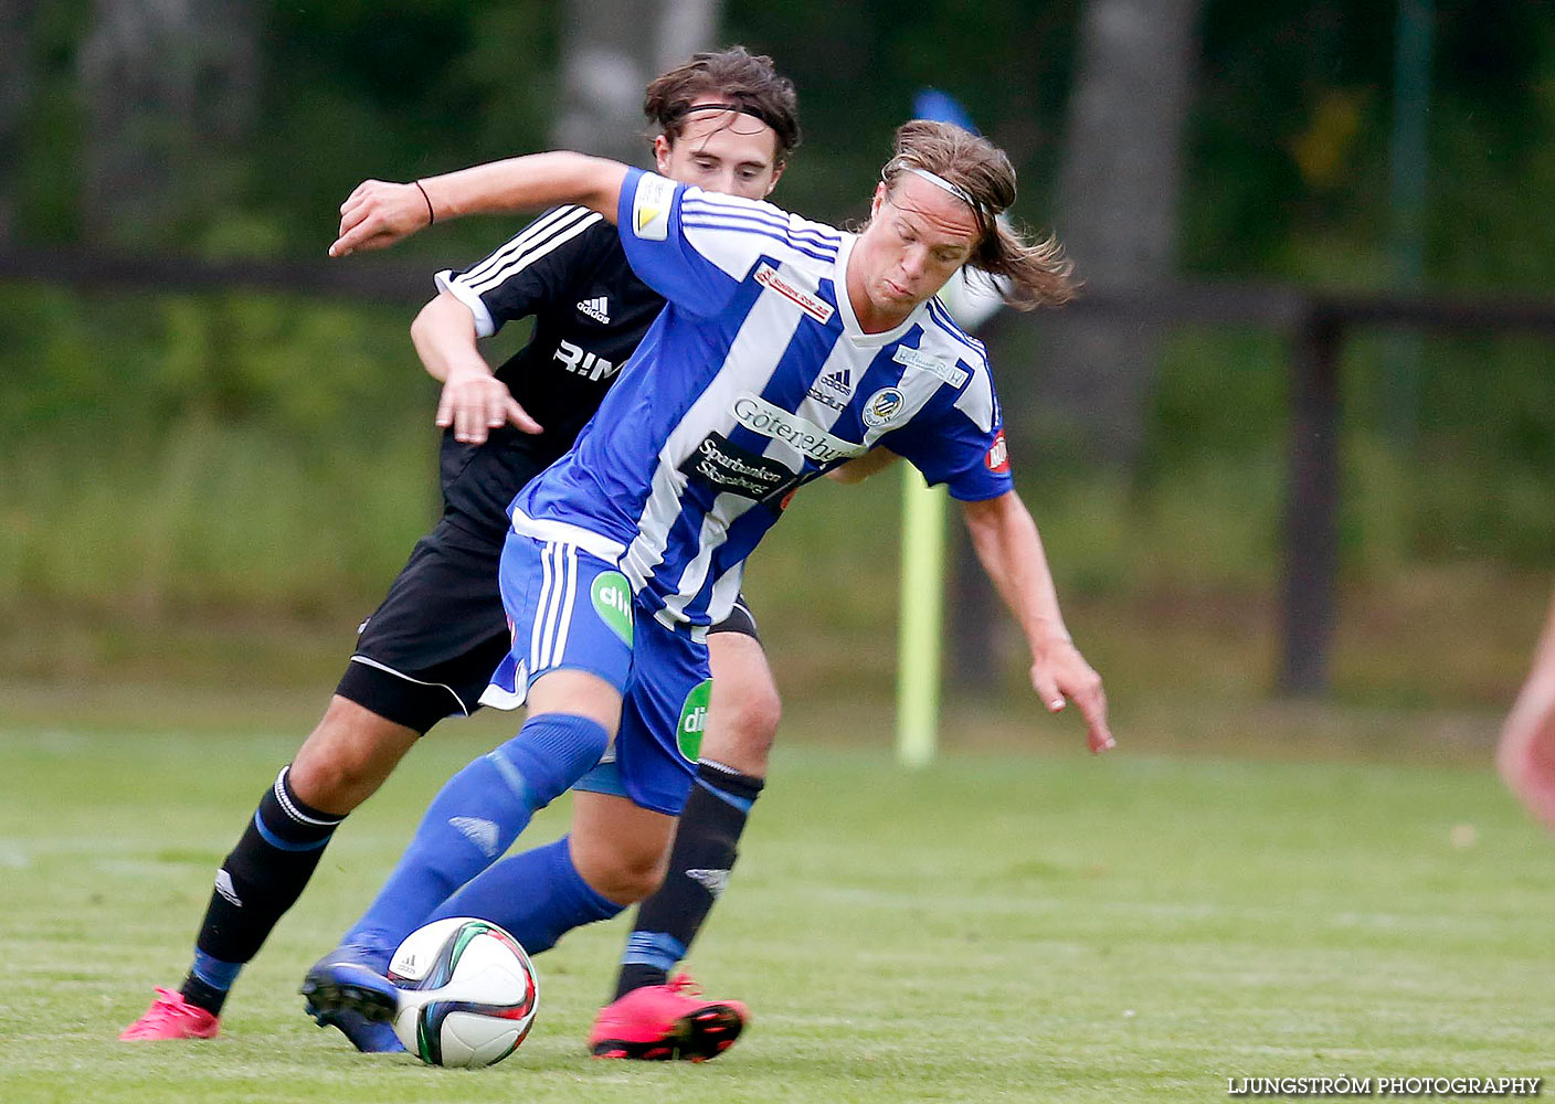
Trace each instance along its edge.
<instances>
[{"instance_id":1,"label":"black sock above the pink shoe at far left","mask_svg":"<svg viewBox=\"0 0 1555 1104\"><path fill-rule=\"evenodd\" d=\"M281 768L249 829L216 871L216 888L194 942L194 966L182 990L187 1001L208 1012L221 1012L238 970L302 896L323 846L345 819L299 801L289 771Z\"/></svg>"}]
</instances>

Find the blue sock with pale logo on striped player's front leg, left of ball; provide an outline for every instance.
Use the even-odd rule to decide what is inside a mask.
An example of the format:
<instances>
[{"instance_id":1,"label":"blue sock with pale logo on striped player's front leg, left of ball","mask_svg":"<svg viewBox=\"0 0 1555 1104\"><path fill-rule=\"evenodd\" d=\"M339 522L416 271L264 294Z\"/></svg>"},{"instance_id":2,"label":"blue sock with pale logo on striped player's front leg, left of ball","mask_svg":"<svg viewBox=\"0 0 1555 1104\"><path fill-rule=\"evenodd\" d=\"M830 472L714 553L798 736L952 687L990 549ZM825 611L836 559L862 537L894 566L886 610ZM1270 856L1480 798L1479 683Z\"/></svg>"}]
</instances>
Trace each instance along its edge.
<instances>
[{"instance_id":1,"label":"blue sock with pale logo on striped player's front leg, left of ball","mask_svg":"<svg viewBox=\"0 0 1555 1104\"><path fill-rule=\"evenodd\" d=\"M586 717L530 717L518 735L448 781L342 942L378 947L387 964L434 908L513 846L530 816L592 768L608 745L605 726Z\"/></svg>"}]
</instances>

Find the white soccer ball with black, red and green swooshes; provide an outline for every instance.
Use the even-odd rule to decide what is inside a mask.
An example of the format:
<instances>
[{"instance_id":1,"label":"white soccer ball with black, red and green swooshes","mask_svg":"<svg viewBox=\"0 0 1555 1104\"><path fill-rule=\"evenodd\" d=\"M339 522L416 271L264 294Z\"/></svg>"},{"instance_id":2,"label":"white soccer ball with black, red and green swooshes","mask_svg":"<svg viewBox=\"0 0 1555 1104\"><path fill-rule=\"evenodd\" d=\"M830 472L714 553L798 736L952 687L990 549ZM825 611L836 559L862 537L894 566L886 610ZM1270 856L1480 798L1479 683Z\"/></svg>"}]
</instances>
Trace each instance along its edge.
<instances>
[{"instance_id":1,"label":"white soccer ball with black, red and green swooshes","mask_svg":"<svg viewBox=\"0 0 1555 1104\"><path fill-rule=\"evenodd\" d=\"M459 916L412 931L389 963L400 997L393 1032L428 1065L477 1068L518 1050L535 1022L540 980L518 939Z\"/></svg>"}]
</instances>

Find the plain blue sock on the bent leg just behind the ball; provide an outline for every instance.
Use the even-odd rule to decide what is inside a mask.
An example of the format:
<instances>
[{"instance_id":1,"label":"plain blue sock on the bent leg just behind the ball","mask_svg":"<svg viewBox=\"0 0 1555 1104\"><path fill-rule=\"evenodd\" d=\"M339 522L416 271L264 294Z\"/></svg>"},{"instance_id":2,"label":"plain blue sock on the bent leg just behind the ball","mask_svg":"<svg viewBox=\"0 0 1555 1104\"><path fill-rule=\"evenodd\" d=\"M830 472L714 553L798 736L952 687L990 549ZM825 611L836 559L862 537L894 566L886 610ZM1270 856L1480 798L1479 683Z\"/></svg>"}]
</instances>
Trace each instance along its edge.
<instances>
[{"instance_id":1,"label":"plain blue sock on the bent leg just behind the ball","mask_svg":"<svg viewBox=\"0 0 1555 1104\"><path fill-rule=\"evenodd\" d=\"M504 858L439 908L431 921L477 916L507 928L530 955L550 950L572 928L608 921L617 905L583 880L568 837Z\"/></svg>"}]
</instances>

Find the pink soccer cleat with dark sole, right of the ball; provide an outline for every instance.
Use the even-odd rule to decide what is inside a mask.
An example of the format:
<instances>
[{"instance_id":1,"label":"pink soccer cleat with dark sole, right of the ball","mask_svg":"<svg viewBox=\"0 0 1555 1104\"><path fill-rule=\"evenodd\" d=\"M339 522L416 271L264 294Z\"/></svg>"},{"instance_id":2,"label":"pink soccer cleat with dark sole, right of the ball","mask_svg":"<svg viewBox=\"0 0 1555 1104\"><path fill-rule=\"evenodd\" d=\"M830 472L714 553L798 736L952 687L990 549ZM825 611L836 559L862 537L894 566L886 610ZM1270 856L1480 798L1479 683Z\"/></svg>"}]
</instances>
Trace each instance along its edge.
<instances>
[{"instance_id":1,"label":"pink soccer cleat with dark sole, right of the ball","mask_svg":"<svg viewBox=\"0 0 1555 1104\"><path fill-rule=\"evenodd\" d=\"M606 1004L588 1036L594 1057L706 1062L734 1045L750 1014L737 1000L703 1000L686 973Z\"/></svg>"}]
</instances>

